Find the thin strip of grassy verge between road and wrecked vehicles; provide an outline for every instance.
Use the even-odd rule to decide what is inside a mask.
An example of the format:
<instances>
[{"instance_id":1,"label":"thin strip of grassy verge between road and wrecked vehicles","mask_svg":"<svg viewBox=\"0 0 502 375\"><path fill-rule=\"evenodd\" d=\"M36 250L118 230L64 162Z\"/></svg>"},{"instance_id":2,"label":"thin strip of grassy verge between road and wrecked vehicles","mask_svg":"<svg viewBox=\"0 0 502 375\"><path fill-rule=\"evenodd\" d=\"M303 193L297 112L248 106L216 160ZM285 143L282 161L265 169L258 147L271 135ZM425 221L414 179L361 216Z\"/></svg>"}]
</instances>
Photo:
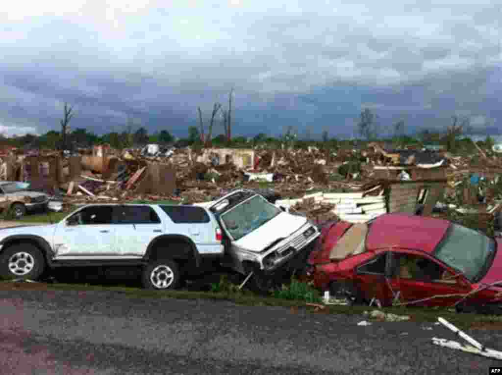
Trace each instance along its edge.
<instances>
[{"instance_id":1,"label":"thin strip of grassy verge between road and wrecked vehicles","mask_svg":"<svg viewBox=\"0 0 502 375\"><path fill-rule=\"evenodd\" d=\"M0 282L0 283L6 283ZM275 306L286 308L305 308L306 311L313 312L314 307L305 305L305 301L289 300L274 297L260 297L250 292L218 291L218 292L194 292L194 291L151 291L132 287L99 286L88 284L49 284L48 290L53 291L90 291L90 292L116 292L130 298L152 298L152 299L183 299L183 300L213 300L229 301L244 306ZM234 288L232 288L234 289ZM319 313L362 315L364 311L374 310L368 306L326 306ZM502 323L502 316L478 315L478 314L457 314L445 308L407 308L389 307L382 311L396 315L409 315L414 322L437 322L438 317L442 317L460 329L467 329L473 323ZM367 317L361 319L368 320Z\"/></svg>"}]
</instances>

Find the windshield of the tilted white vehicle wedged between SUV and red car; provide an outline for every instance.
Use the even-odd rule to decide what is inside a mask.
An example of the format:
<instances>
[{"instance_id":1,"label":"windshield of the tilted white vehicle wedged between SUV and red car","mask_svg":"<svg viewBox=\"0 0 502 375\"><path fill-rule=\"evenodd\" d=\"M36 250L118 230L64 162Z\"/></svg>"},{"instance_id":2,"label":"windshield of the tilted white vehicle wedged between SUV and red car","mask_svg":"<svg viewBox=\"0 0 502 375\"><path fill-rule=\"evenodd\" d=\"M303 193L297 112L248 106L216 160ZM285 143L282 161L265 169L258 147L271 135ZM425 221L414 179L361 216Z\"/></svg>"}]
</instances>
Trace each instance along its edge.
<instances>
[{"instance_id":1,"label":"windshield of the tilted white vehicle wedged between SUV and red car","mask_svg":"<svg viewBox=\"0 0 502 375\"><path fill-rule=\"evenodd\" d=\"M264 198L254 196L222 214L220 219L232 238L238 240L281 212L281 209Z\"/></svg>"}]
</instances>

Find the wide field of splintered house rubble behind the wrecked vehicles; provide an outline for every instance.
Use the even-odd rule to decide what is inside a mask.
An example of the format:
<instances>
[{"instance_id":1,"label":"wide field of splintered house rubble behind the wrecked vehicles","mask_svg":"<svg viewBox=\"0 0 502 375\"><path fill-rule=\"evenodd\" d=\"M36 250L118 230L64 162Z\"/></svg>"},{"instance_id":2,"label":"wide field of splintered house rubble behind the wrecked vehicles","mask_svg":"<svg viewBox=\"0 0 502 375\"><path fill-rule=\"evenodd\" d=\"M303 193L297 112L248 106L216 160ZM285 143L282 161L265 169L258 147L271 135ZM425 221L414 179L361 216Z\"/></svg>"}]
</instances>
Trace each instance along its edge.
<instances>
[{"instance_id":1,"label":"wide field of splintered house rubble behind the wrecked vehicles","mask_svg":"<svg viewBox=\"0 0 502 375\"><path fill-rule=\"evenodd\" d=\"M308 149L255 147L144 148L109 146L78 154L9 150L0 179L30 181L32 189L68 204L211 201L237 188L273 186L279 205L313 219L363 222L385 212L431 215L457 210L493 217L502 208L502 154L478 150L453 156L383 143ZM476 146L477 147L477 146ZM436 202L439 203L436 205ZM431 206L432 205L432 206Z\"/></svg>"}]
</instances>

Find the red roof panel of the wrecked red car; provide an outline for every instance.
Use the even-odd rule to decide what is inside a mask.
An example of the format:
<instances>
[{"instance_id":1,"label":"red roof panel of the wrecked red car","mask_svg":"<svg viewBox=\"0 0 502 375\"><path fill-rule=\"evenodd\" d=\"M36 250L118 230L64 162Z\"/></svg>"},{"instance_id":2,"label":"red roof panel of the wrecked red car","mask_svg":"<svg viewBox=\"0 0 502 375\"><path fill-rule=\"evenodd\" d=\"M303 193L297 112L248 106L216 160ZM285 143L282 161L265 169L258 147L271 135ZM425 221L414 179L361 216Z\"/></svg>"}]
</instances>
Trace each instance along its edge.
<instances>
[{"instance_id":1,"label":"red roof panel of the wrecked red car","mask_svg":"<svg viewBox=\"0 0 502 375\"><path fill-rule=\"evenodd\" d=\"M400 247L432 252L450 223L446 220L407 214L376 218L366 238L366 249Z\"/></svg>"}]
</instances>

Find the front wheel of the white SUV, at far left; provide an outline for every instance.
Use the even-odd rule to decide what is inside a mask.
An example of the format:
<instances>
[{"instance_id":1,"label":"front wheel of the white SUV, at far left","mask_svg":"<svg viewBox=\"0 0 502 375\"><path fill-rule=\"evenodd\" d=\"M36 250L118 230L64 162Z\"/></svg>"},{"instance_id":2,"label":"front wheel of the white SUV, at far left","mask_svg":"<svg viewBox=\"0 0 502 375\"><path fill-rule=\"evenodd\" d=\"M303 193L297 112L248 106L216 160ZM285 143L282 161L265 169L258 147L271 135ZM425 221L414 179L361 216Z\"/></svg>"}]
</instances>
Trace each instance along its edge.
<instances>
[{"instance_id":1,"label":"front wheel of the white SUV, at far left","mask_svg":"<svg viewBox=\"0 0 502 375\"><path fill-rule=\"evenodd\" d=\"M0 253L0 275L5 278L35 280L45 269L44 256L32 244L9 246Z\"/></svg>"}]
</instances>

